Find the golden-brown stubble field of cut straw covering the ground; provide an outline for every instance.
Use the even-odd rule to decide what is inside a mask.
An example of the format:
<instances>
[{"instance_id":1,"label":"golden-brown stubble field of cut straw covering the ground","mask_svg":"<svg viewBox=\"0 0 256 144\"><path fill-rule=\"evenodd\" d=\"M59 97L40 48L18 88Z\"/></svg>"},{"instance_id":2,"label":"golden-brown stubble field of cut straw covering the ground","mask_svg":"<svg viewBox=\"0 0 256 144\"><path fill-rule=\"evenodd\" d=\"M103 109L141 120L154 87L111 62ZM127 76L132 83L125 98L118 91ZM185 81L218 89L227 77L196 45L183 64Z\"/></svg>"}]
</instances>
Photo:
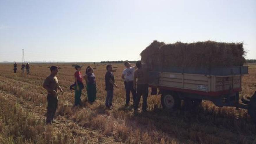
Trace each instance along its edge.
<instances>
[{"instance_id":1,"label":"golden-brown stubble field of cut straw covering the ground","mask_svg":"<svg viewBox=\"0 0 256 144\"><path fill-rule=\"evenodd\" d=\"M89 63L83 65L82 73ZM114 90L113 109L105 109L106 64L96 64L97 97L88 104L86 90L82 104L73 107L74 67L71 63L55 64L61 67L57 78L64 93L59 93L55 115L59 124L45 125L47 91L42 83L50 74L52 64L31 64L31 74L22 75L18 64L0 64L0 143L256 143L256 124L247 110L232 107L219 108L203 101L192 110L165 111L160 95L149 95L147 113L133 115L132 106L126 108L123 64L113 64L119 88ZM251 96L256 90L256 65L249 65L249 75L243 76L241 97ZM132 98L131 98L132 99ZM132 104L133 102L130 102ZM140 104L141 108L141 104Z\"/></svg>"}]
</instances>

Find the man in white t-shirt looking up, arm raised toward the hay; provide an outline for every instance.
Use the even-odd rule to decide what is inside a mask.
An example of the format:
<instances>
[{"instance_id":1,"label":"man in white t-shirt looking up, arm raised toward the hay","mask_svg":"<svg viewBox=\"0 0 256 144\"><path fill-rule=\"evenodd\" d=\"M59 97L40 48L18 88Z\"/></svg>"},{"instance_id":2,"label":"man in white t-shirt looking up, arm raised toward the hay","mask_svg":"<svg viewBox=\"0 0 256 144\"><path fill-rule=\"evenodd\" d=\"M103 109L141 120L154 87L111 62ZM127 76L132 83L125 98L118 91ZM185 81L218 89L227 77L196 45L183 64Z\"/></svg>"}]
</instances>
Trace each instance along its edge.
<instances>
[{"instance_id":1,"label":"man in white t-shirt looking up, arm raised toward the hay","mask_svg":"<svg viewBox=\"0 0 256 144\"><path fill-rule=\"evenodd\" d=\"M126 69L122 72L122 79L125 80L125 106L128 106L130 103L130 92L132 93L133 103L136 100L136 90L133 88L133 74L137 67L131 67L131 63L129 62L125 62L125 67Z\"/></svg>"}]
</instances>

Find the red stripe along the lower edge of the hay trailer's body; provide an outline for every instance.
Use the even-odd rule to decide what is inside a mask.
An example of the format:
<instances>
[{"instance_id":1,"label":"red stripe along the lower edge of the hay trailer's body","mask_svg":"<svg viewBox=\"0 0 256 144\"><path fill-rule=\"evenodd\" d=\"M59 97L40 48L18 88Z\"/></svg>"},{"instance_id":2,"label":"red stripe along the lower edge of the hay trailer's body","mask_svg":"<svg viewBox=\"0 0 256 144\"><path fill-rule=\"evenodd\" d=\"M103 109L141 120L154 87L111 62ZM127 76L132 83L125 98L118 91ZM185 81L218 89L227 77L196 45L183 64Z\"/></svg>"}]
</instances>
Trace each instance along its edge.
<instances>
[{"instance_id":1,"label":"red stripe along the lower edge of the hay trailer's body","mask_svg":"<svg viewBox=\"0 0 256 144\"><path fill-rule=\"evenodd\" d=\"M163 90L173 90L173 91L179 91L179 92L184 92L184 93L194 93L198 95L205 95L205 96L220 96L220 95L227 95L230 93L236 93L242 91L242 88L235 88L233 90L222 90L222 91L217 91L217 92L203 92L203 91L198 91L198 90L189 90L189 89L182 89L182 88L173 88L173 87L165 87L165 86L150 86L152 88L159 88Z\"/></svg>"}]
</instances>

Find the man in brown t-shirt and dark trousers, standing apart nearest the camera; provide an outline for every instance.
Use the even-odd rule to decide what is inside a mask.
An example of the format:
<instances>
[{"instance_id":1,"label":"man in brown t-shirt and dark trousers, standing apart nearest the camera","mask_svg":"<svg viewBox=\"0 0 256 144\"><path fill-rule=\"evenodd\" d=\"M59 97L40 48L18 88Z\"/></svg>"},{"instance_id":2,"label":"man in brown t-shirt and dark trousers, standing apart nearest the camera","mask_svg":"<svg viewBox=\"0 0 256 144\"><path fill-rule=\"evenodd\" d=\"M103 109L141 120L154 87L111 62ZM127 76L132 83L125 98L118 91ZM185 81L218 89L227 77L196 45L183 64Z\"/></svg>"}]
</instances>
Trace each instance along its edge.
<instances>
[{"instance_id":1,"label":"man in brown t-shirt and dark trousers, standing apart nearest the camera","mask_svg":"<svg viewBox=\"0 0 256 144\"><path fill-rule=\"evenodd\" d=\"M47 113L46 113L46 124L56 123L53 121L57 106L58 106L58 89L63 92L62 88L58 84L56 74L58 73L58 67L53 65L50 67L51 74L45 79L43 88L48 92L47 95Z\"/></svg>"}]
</instances>

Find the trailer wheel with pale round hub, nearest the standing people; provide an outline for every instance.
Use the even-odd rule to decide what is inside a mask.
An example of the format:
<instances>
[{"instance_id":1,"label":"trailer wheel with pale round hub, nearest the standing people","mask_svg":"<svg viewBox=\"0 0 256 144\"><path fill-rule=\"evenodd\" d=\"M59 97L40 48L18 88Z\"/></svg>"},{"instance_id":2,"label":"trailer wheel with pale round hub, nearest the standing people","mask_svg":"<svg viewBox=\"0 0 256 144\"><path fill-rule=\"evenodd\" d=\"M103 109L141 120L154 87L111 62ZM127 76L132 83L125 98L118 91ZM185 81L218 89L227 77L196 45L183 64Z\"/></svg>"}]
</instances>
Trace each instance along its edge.
<instances>
[{"instance_id":1,"label":"trailer wheel with pale round hub, nearest the standing people","mask_svg":"<svg viewBox=\"0 0 256 144\"><path fill-rule=\"evenodd\" d=\"M175 109L180 107L180 99L175 94L162 94L161 104L164 109Z\"/></svg>"}]
</instances>

